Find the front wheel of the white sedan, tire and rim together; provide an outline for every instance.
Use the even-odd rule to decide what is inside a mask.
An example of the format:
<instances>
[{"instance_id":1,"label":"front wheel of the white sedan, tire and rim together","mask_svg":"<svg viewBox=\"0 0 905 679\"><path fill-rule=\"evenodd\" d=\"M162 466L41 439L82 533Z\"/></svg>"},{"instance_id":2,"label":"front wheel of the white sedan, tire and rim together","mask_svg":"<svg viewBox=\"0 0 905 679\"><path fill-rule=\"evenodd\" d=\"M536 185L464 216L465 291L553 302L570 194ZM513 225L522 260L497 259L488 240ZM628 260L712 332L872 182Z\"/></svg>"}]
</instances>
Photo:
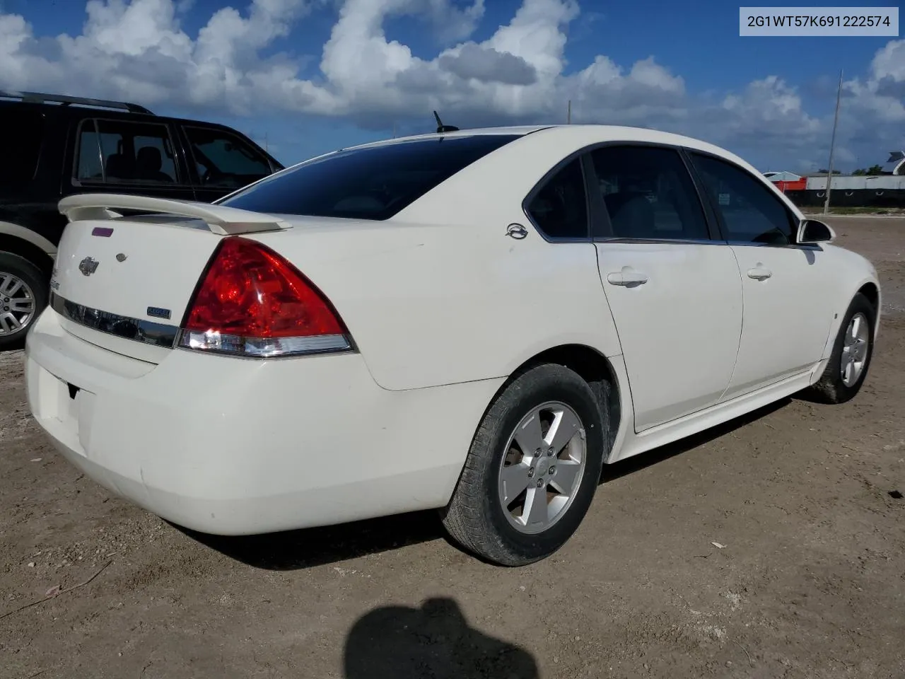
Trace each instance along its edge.
<instances>
[{"instance_id":1,"label":"front wheel of the white sedan, tire and rim together","mask_svg":"<svg viewBox=\"0 0 905 679\"><path fill-rule=\"evenodd\" d=\"M876 320L877 311L871 301L861 292L856 294L839 325L824 374L808 389L808 396L821 403L836 404L852 399L861 390L871 366ZM853 370L849 378L843 373L846 366Z\"/></svg>"}]
</instances>

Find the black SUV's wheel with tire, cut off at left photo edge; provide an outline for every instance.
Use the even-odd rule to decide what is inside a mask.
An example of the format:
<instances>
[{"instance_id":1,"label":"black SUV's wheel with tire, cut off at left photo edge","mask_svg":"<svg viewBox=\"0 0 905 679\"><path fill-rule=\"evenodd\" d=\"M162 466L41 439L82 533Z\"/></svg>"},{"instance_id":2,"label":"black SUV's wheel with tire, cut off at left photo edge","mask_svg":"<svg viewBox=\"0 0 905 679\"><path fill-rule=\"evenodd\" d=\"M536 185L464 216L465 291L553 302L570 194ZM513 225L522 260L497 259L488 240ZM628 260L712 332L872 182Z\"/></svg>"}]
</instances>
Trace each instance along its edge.
<instances>
[{"instance_id":1,"label":"black SUV's wheel with tire, cut off at left photo edge","mask_svg":"<svg viewBox=\"0 0 905 679\"><path fill-rule=\"evenodd\" d=\"M24 257L0 253L0 349L20 345L34 320L47 306L49 286L46 278ZM16 311L26 305L31 309L29 313Z\"/></svg>"}]
</instances>

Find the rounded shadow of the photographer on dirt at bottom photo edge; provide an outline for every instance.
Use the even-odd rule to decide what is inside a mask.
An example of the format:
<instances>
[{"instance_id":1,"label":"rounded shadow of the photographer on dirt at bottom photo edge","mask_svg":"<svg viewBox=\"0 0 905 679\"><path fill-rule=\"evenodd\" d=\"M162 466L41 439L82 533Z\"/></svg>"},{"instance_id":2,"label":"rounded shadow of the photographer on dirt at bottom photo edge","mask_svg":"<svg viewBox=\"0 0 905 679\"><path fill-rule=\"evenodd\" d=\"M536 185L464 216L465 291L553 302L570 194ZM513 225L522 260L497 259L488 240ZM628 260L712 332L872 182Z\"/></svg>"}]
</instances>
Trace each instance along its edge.
<instances>
[{"instance_id":1,"label":"rounded shadow of the photographer on dirt at bottom photo edge","mask_svg":"<svg viewBox=\"0 0 905 679\"><path fill-rule=\"evenodd\" d=\"M343 651L347 679L537 679L528 651L468 625L451 598L420 608L381 607L360 617Z\"/></svg>"}]
</instances>

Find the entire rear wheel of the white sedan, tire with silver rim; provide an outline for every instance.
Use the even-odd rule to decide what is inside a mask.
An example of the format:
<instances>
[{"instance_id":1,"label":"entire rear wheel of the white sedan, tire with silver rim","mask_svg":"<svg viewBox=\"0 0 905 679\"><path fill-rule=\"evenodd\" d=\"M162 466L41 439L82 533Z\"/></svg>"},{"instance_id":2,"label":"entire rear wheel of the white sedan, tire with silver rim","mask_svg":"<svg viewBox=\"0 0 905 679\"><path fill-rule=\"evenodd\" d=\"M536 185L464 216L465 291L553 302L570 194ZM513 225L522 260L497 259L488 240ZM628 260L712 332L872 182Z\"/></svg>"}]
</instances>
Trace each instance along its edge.
<instances>
[{"instance_id":1,"label":"entire rear wheel of the white sedan, tire with silver rim","mask_svg":"<svg viewBox=\"0 0 905 679\"><path fill-rule=\"evenodd\" d=\"M610 440L607 413L569 368L539 365L513 378L481 420L441 512L452 539L502 566L523 566L562 547L600 481ZM538 435L546 450L532 443Z\"/></svg>"}]
</instances>

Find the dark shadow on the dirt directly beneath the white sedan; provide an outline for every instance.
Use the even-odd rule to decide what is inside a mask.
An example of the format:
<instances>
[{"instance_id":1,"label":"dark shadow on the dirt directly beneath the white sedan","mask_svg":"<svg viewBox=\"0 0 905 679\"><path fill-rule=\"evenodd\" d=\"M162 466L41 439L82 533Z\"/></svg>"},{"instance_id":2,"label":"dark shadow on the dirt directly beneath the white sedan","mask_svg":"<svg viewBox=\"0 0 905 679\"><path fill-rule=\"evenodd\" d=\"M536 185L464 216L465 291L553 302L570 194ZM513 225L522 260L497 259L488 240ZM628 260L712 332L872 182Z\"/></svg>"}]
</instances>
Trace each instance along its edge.
<instances>
[{"instance_id":1,"label":"dark shadow on the dirt directly beneath the white sedan","mask_svg":"<svg viewBox=\"0 0 905 679\"><path fill-rule=\"evenodd\" d=\"M674 444L635 455L623 462L606 464L601 483L614 481L707 444L774 413L791 402L791 398L783 398ZM430 540L448 540L437 512L413 512L338 526L246 537L207 535L179 526L176 528L232 559L268 570L307 569Z\"/></svg>"}]
</instances>

